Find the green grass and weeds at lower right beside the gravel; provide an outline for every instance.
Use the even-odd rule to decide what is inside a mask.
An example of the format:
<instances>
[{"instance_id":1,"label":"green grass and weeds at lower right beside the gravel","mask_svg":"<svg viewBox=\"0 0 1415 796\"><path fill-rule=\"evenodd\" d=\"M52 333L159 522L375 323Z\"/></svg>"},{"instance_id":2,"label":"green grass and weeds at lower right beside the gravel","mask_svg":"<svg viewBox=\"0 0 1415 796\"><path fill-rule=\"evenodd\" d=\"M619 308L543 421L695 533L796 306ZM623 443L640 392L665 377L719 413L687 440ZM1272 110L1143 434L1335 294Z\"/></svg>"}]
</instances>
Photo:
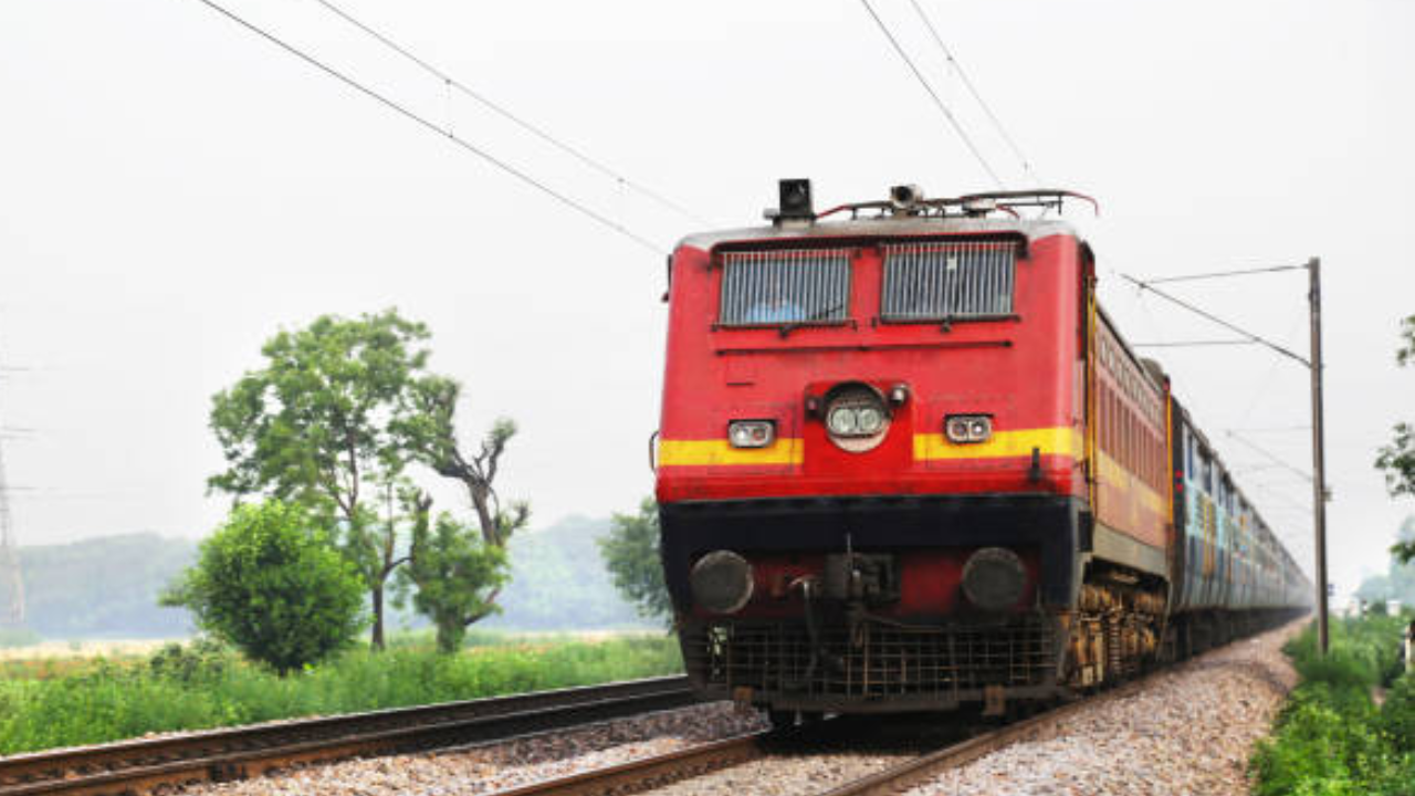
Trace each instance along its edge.
<instances>
[{"instance_id":1,"label":"green grass and weeds at lower right beside the gravel","mask_svg":"<svg viewBox=\"0 0 1415 796\"><path fill-rule=\"evenodd\" d=\"M1333 622L1326 657L1313 627L1288 643L1302 680L1254 755L1255 795L1415 796L1415 676L1398 659L1407 622ZM1388 688L1381 705L1377 688Z\"/></svg>"}]
</instances>

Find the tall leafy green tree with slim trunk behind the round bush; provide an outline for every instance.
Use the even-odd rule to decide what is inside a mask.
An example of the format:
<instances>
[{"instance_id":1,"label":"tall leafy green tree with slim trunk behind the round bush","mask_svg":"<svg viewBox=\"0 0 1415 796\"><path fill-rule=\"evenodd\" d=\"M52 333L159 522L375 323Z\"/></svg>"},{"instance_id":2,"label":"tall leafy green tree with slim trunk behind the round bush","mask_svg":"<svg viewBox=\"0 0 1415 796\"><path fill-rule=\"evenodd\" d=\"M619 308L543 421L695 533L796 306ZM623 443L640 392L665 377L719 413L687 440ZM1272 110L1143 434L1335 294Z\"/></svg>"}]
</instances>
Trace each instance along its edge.
<instances>
[{"instance_id":1,"label":"tall leafy green tree with slim trunk behind the round bush","mask_svg":"<svg viewBox=\"0 0 1415 796\"><path fill-rule=\"evenodd\" d=\"M355 320L321 316L266 341L265 367L212 398L211 429L228 469L208 487L238 501L293 500L323 520L364 578L375 649L383 647L385 585L406 561L391 496L406 483L413 453L427 448L410 435L437 428L412 416L413 395L449 381L427 373L429 337L392 309ZM385 499L382 517L369 497Z\"/></svg>"}]
</instances>

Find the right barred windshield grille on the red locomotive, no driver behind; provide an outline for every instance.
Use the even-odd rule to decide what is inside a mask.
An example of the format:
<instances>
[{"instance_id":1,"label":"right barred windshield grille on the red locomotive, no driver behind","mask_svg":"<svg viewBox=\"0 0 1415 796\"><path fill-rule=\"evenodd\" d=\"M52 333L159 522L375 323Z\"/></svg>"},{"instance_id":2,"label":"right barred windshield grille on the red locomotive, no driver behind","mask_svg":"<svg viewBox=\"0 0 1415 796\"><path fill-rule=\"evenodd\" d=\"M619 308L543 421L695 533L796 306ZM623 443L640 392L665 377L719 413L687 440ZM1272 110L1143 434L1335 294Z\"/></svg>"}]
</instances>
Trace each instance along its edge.
<instances>
[{"instance_id":1,"label":"right barred windshield grille on the red locomotive, no driver behind","mask_svg":"<svg viewBox=\"0 0 1415 796\"><path fill-rule=\"evenodd\" d=\"M1012 313L1013 242L884 246L886 320L947 320Z\"/></svg>"}]
</instances>

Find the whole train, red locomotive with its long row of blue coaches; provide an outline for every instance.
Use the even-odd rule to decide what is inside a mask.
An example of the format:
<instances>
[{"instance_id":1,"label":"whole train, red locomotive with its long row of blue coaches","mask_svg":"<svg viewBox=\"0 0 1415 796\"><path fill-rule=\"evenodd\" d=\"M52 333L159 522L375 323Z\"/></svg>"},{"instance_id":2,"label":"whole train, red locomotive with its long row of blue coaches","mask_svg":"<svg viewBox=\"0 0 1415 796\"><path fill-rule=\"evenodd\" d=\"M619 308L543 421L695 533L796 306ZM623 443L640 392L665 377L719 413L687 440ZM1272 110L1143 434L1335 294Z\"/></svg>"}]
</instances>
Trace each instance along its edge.
<instances>
[{"instance_id":1,"label":"whole train, red locomotive with its long row of blue coaches","mask_svg":"<svg viewBox=\"0 0 1415 796\"><path fill-rule=\"evenodd\" d=\"M668 256L659 552L703 697L1002 715L1310 610L1097 300L1094 201L778 195Z\"/></svg>"}]
</instances>

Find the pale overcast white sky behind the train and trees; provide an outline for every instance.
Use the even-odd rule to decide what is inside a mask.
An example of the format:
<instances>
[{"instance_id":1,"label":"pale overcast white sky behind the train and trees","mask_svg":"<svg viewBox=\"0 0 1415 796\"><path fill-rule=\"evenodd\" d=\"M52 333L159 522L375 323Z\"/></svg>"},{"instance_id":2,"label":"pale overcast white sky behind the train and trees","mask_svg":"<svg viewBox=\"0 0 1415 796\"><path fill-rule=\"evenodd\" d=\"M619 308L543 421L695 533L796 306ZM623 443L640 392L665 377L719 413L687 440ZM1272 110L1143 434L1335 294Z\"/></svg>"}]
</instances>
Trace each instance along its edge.
<instances>
[{"instance_id":1,"label":"pale overcast white sky behind the train and trees","mask_svg":"<svg viewBox=\"0 0 1415 796\"><path fill-rule=\"evenodd\" d=\"M873 0L975 157L857 0L335 0L624 183L318 0L219 1L649 245L202 0L0 3L0 448L21 544L209 533L228 506L204 490L211 395L277 330L385 307L432 329L468 438L518 421L498 486L533 525L633 510L652 487L661 251L757 222L780 177L825 207L998 187L982 163L1099 200L1070 218L1133 343L1227 333L1122 273L1320 256L1337 588L1384 571L1415 513L1371 466L1415 419L1415 368L1394 363L1415 313L1409 3L918 0L949 64L908 0ZM1306 354L1300 271L1172 288ZM1259 347L1145 353L1310 568L1307 371Z\"/></svg>"}]
</instances>

